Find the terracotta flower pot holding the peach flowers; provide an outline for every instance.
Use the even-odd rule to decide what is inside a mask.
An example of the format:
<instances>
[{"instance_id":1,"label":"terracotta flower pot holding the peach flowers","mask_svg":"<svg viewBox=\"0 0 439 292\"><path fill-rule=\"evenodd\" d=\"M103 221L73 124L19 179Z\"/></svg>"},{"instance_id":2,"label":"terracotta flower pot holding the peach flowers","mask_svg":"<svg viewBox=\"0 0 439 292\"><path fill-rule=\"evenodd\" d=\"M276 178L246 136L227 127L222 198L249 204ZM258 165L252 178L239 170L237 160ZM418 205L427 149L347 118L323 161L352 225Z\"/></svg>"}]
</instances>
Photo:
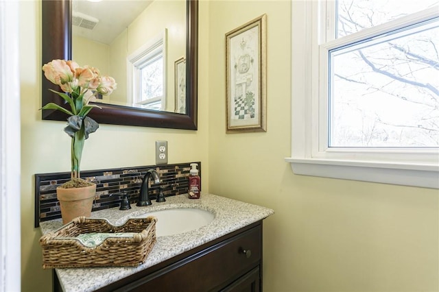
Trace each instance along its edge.
<instances>
[{"instance_id":1,"label":"terracotta flower pot holding the peach flowers","mask_svg":"<svg viewBox=\"0 0 439 292\"><path fill-rule=\"evenodd\" d=\"M62 223L67 224L80 216L90 217L96 184L84 188L56 188L56 197L60 202Z\"/></svg>"}]
</instances>

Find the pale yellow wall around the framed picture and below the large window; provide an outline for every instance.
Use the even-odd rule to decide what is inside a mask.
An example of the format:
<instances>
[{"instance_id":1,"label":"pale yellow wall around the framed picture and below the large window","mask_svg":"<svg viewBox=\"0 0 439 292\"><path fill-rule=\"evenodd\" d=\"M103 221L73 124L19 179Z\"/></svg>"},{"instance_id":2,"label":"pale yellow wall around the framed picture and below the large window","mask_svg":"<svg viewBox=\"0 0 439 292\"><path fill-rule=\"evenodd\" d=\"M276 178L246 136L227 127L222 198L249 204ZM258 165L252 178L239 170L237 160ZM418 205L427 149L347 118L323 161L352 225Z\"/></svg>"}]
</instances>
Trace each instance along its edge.
<instances>
[{"instance_id":1,"label":"pale yellow wall around the framed picture and below the large window","mask_svg":"<svg viewBox=\"0 0 439 292\"><path fill-rule=\"evenodd\" d=\"M275 210L264 221L264 291L439 291L438 190L294 175L284 161L291 3L209 4L209 191ZM224 36L264 13L268 130L226 134Z\"/></svg>"}]
</instances>

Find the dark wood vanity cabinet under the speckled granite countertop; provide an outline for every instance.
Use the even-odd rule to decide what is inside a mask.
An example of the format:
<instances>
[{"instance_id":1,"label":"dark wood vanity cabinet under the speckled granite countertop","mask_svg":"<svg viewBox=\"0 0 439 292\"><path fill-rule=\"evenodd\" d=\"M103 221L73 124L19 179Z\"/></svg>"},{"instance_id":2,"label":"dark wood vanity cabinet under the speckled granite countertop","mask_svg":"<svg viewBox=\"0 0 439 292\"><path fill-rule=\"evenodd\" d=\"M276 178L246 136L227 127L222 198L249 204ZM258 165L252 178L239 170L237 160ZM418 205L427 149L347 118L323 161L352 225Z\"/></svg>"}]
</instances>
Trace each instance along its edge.
<instances>
[{"instance_id":1,"label":"dark wood vanity cabinet under the speckled granite countertop","mask_svg":"<svg viewBox=\"0 0 439 292\"><path fill-rule=\"evenodd\" d=\"M262 221L98 291L261 291Z\"/></svg>"}]
</instances>

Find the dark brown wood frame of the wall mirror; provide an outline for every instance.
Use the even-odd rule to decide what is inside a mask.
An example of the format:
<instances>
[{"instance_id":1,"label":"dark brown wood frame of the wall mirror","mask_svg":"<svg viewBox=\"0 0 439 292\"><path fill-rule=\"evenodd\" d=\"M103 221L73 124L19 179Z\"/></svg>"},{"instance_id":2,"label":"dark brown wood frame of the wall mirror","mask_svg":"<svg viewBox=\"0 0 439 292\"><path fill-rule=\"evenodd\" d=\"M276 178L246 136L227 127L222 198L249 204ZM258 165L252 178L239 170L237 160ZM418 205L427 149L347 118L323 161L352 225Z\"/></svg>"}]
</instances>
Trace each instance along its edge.
<instances>
[{"instance_id":1,"label":"dark brown wood frame of the wall mirror","mask_svg":"<svg viewBox=\"0 0 439 292\"><path fill-rule=\"evenodd\" d=\"M71 1L42 1L42 64L54 59L71 60ZM198 121L198 0L187 0L186 42L186 114L160 112L99 104L102 110L93 109L90 116L98 123L165 127L197 130ZM49 102L64 105L64 100L48 89L59 87L47 80L42 71L43 106ZM43 110L43 120L66 121L67 115L58 110Z\"/></svg>"}]
</instances>

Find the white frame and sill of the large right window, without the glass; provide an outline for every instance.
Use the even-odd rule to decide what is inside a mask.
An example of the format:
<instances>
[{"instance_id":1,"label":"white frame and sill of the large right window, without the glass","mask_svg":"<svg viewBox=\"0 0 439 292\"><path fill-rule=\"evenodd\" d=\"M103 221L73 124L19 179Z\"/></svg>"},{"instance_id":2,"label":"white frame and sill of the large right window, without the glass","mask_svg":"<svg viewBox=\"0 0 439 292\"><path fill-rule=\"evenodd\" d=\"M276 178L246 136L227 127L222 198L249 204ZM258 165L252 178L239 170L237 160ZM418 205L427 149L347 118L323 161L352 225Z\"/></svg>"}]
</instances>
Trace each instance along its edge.
<instances>
[{"instance_id":1,"label":"white frame and sill of the large right window, without the glass","mask_svg":"<svg viewBox=\"0 0 439 292\"><path fill-rule=\"evenodd\" d=\"M330 4L331 5L331 4ZM439 15L426 10L392 21L393 30L419 19ZM439 150L411 148L328 148L328 50L340 44L325 43L325 1L292 1L292 156L285 158L300 175L366 182L439 188ZM332 27L332 28L331 28ZM334 29L329 25L329 29ZM382 29L383 26L381 26ZM364 29L355 38L376 36L379 27ZM324 44L319 46L319 44ZM322 81L322 82L320 82Z\"/></svg>"}]
</instances>

